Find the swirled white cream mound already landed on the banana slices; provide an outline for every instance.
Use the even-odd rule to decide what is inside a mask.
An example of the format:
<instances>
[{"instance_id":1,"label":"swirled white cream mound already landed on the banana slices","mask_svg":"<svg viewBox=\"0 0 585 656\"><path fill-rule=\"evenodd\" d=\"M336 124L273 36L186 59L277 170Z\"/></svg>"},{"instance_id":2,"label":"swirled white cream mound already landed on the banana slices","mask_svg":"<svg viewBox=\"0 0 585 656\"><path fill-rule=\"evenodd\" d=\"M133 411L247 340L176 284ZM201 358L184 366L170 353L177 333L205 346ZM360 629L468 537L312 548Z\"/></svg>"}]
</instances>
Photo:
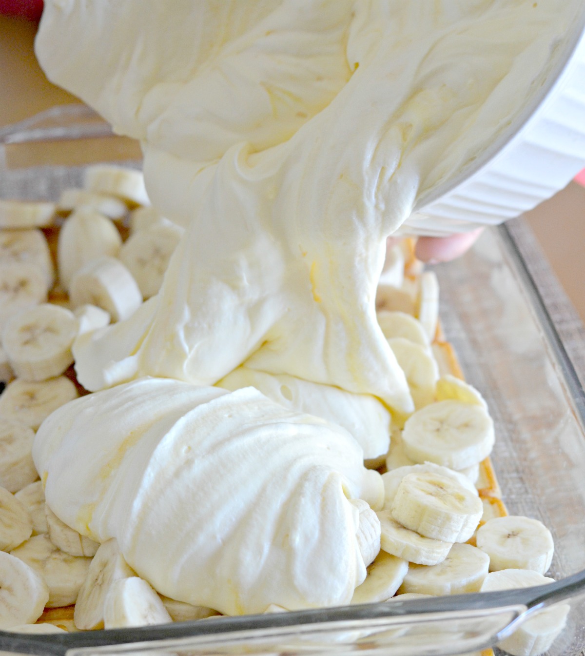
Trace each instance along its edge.
<instances>
[{"instance_id":1,"label":"swirled white cream mound already landed on the banana slices","mask_svg":"<svg viewBox=\"0 0 585 656\"><path fill-rule=\"evenodd\" d=\"M115 537L159 592L230 615L349 603L366 573L349 499L384 498L348 432L253 388L90 394L43 423L33 458L64 522Z\"/></svg>"}]
</instances>

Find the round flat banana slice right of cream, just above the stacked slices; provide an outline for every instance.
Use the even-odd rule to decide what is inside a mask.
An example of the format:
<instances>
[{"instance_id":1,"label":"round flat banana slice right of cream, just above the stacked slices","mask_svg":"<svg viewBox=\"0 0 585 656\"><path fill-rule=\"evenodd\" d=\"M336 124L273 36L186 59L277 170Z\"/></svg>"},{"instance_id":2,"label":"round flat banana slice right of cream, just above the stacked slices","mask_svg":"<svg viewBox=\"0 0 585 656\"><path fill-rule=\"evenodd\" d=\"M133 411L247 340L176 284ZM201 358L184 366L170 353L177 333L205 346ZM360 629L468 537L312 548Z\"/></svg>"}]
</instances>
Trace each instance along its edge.
<instances>
[{"instance_id":1,"label":"round flat banana slice right of cream, just above the stacked slices","mask_svg":"<svg viewBox=\"0 0 585 656\"><path fill-rule=\"evenodd\" d=\"M494 445L494 424L480 405L437 401L407 419L402 440L408 457L414 461L460 470L489 456Z\"/></svg>"}]
</instances>

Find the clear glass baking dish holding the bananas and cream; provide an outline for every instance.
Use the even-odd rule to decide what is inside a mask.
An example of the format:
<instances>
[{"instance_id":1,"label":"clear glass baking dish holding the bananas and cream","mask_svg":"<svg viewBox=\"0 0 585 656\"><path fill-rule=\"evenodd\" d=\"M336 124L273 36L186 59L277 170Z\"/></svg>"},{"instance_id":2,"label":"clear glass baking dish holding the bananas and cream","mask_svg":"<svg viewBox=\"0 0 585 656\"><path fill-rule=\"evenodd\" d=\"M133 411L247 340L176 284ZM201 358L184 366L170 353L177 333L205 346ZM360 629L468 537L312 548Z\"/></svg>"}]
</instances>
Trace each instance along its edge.
<instances>
[{"instance_id":1,"label":"clear glass baking dish holding the bananas and cream","mask_svg":"<svg viewBox=\"0 0 585 656\"><path fill-rule=\"evenodd\" d=\"M56 200L62 189L81 186L85 167L96 161L139 167L140 149L83 106L54 108L0 131L0 197ZM466 378L489 403L497 436L492 459L510 514L539 518L552 531L556 584L135 629L0 632L0 649L71 656L448 655L493 646L541 605L568 599L569 621L550 653L582 653L585 394L513 233L491 228L462 258L435 267L441 320Z\"/></svg>"}]
</instances>

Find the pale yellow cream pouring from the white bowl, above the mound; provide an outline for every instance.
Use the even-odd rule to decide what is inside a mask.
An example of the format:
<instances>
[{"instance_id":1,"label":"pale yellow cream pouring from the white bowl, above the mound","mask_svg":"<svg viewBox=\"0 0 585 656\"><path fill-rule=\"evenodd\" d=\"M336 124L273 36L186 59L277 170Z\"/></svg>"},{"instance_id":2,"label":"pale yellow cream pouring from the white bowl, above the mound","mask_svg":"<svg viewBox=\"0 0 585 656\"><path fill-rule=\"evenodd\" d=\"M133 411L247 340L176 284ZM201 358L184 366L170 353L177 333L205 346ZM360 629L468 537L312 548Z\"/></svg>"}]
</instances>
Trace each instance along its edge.
<instances>
[{"instance_id":1,"label":"pale yellow cream pouring from the white bowl, above the mound","mask_svg":"<svg viewBox=\"0 0 585 656\"><path fill-rule=\"evenodd\" d=\"M43 68L142 141L153 204L187 227L79 380L245 362L411 410L374 313L385 238L509 125L569 4L49 0Z\"/></svg>"}]
</instances>

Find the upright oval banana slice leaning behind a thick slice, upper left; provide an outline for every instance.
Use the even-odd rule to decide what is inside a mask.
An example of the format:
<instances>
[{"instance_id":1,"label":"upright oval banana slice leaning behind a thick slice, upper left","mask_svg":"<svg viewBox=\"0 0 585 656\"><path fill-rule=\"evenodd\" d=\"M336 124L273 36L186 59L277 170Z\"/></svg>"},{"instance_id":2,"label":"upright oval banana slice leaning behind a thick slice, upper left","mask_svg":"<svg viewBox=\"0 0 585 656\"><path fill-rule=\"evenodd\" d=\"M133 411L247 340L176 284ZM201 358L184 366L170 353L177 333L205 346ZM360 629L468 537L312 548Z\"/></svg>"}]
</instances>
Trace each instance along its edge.
<instances>
[{"instance_id":1,"label":"upright oval banana slice leaning behind a thick slice, upper left","mask_svg":"<svg viewBox=\"0 0 585 656\"><path fill-rule=\"evenodd\" d=\"M78 209L64 222L57 244L59 279L71 293L73 276L88 262L118 255L122 239L107 216Z\"/></svg>"}]
</instances>

